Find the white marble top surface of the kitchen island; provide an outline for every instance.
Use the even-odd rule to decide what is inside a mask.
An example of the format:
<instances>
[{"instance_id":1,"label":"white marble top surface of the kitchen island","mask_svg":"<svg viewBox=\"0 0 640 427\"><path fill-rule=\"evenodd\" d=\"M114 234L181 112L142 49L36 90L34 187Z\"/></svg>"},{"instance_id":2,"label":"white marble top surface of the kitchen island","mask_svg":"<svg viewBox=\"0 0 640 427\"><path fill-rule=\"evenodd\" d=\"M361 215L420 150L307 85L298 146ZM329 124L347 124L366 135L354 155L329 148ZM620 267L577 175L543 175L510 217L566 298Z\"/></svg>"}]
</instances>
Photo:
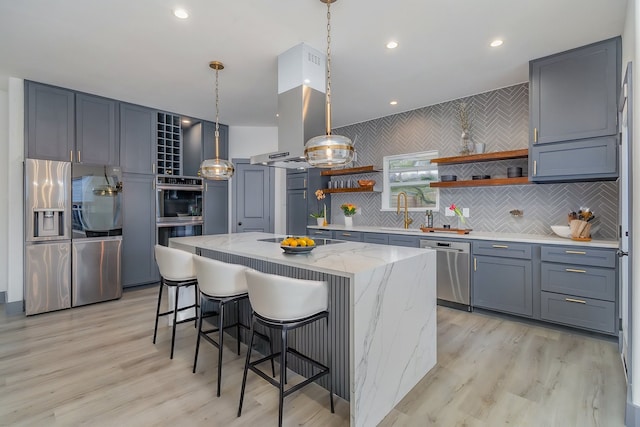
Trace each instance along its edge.
<instances>
[{"instance_id":1,"label":"white marble top surface of the kitchen island","mask_svg":"<svg viewBox=\"0 0 640 427\"><path fill-rule=\"evenodd\" d=\"M173 237L169 239L169 246L184 250L190 250L193 247L211 249L345 277L353 277L356 273L418 257L423 255L425 250L429 250L372 243L342 242L317 246L305 255L288 255L283 252L278 243L259 241L259 239L272 237L285 236L251 232Z\"/></svg>"}]
</instances>

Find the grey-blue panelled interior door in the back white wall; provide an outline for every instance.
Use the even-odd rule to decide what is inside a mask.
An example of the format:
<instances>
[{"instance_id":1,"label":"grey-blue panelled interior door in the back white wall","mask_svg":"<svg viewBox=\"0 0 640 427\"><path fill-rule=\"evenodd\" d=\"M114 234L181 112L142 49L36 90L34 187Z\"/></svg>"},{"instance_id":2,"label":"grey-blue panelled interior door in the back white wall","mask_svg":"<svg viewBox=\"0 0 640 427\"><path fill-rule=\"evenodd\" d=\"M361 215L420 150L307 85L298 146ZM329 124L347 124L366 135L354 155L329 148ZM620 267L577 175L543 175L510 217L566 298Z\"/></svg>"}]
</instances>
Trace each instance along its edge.
<instances>
[{"instance_id":1,"label":"grey-blue panelled interior door in the back white wall","mask_svg":"<svg viewBox=\"0 0 640 427\"><path fill-rule=\"evenodd\" d=\"M274 180L273 168L252 165L248 159L233 160L236 173L233 176L233 227L234 233L274 229Z\"/></svg>"}]
</instances>

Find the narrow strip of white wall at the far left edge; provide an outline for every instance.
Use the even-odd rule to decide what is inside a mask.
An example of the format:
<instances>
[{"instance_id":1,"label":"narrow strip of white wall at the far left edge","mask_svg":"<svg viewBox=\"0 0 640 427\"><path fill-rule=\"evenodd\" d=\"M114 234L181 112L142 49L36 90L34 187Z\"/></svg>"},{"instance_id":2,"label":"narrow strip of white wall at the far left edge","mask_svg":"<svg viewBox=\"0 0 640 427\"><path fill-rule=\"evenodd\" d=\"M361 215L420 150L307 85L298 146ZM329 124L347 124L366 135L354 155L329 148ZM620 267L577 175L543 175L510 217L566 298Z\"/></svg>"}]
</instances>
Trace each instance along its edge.
<instances>
[{"instance_id":1,"label":"narrow strip of white wall at the far left edge","mask_svg":"<svg viewBox=\"0 0 640 427\"><path fill-rule=\"evenodd\" d=\"M7 79L8 80L8 79ZM9 157L9 93L0 90L0 200L7 200L9 174L7 161ZM7 292L7 250L8 250L8 207L0 209L0 292Z\"/></svg>"}]
</instances>

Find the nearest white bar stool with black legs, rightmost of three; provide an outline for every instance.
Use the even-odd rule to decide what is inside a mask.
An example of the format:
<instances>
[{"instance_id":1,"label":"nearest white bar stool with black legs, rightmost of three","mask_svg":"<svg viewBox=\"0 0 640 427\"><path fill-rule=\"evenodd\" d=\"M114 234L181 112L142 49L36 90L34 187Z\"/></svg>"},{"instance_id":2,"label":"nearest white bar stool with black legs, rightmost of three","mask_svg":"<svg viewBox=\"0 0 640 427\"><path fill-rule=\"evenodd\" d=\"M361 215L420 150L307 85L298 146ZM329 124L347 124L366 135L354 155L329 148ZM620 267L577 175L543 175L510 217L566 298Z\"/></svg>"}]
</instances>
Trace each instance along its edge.
<instances>
[{"instance_id":1,"label":"nearest white bar stool with black legs, rightmost of three","mask_svg":"<svg viewBox=\"0 0 640 427\"><path fill-rule=\"evenodd\" d=\"M329 376L329 400L331 402L331 412L334 412L333 405L333 385L331 381L331 347L327 340L327 365L309 358L287 344L287 333L290 330L300 328L318 320L325 319L327 329L329 327L329 293L327 282L316 280L301 280L290 277L276 276L273 274L260 273L255 270L247 270L247 287L249 291L249 301L253 309L251 322L251 337L249 339L249 350L247 360L244 365L244 375L242 377L242 389L240 391L240 404L238 406L238 416L242 413L242 401L247 383L247 372L255 372L269 383L278 387L278 425L282 426L282 412L284 398L291 393L301 389L305 385L318 378ZM251 362L251 346L256 325L263 325L267 328L280 330L282 345L280 351L270 356L263 357ZM287 354L310 363L319 369L319 372L299 384L284 389L286 383ZM280 381L269 378L257 365L275 358L280 358Z\"/></svg>"}]
</instances>

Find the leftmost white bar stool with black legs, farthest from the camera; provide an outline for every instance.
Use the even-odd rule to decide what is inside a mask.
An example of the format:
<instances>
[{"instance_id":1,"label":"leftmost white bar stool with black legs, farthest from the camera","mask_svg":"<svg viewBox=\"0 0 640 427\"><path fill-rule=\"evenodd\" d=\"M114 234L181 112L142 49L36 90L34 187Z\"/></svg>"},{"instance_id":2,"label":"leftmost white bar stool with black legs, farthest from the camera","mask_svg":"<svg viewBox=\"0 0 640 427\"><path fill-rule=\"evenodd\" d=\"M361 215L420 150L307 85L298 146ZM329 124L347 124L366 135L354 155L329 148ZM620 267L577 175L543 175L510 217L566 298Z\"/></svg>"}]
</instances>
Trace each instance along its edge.
<instances>
[{"instance_id":1,"label":"leftmost white bar stool with black legs, farthest from the camera","mask_svg":"<svg viewBox=\"0 0 640 427\"><path fill-rule=\"evenodd\" d=\"M156 245L155 255L156 263L160 270L160 292L158 294L158 308L156 309L156 325L153 329L153 343L156 343L156 335L158 334L158 318L160 316L173 314L173 330L171 332L171 359L173 359L173 348L176 341L176 325L178 323L185 323L191 320L194 321L194 326L196 325L195 321L198 318L198 281L193 268L193 255L190 252ZM176 300L173 310L160 313L162 289L164 289L165 286L175 289ZM180 288L186 288L189 286L193 286L195 292L194 304L178 308ZM190 308L196 310L196 316L178 320L178 312L188 310Z\"/></svg>"}]
</instances>

